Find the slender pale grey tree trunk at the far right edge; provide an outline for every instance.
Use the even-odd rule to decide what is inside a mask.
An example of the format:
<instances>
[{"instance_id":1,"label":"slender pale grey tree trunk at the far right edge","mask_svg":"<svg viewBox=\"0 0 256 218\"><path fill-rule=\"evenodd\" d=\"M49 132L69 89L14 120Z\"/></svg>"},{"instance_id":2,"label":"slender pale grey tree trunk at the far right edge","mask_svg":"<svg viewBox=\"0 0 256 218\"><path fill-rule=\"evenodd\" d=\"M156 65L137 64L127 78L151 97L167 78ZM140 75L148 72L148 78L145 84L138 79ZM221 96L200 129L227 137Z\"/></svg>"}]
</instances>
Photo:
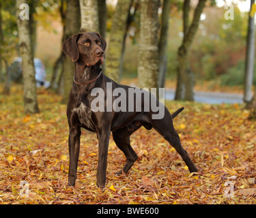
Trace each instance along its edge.
<instances>
[{"instance_id":1,"label":"slender pale grey tree trunk at the far right edge","mask_svg":"<svg viewBox=\"0 0 256 218\"><path fill-rule=\"evenodd\" d=\"M255 0L251 0L251 9ZM251 11L251 10L250 10ZM244 74L244 102L250 102L252 99L251 88L253 87L253 71L254 71L254 53L255 53L255 27L254 14L251 16L249 12L248 33L246 45L245 74Z\"/></svg>"}]
</instances>

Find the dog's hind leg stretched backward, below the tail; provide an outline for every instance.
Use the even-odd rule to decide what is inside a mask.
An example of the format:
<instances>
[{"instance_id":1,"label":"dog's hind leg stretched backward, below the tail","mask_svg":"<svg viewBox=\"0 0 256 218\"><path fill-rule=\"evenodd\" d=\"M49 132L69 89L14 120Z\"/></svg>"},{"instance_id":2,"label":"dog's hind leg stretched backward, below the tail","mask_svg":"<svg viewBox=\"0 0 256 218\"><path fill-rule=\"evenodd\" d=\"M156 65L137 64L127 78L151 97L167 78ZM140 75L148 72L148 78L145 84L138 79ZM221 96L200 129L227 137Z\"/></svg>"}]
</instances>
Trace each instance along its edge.
<instances>
[{"instance_id":1,"label":"dog's hind leg stretched backward, below the tail","mask_svg":"<svg viewBox=\"0 0 256 218\"><path fill-rule=\"evenodd\" d=\"M177 151L177 153L180 154L182 159L185 161L186 165L188 166L188 169L190 172L197 172L197 168L195 167L194 163L191 161L188 153L184 150L182 147L182 144L180 142L180 137L177 134L177 131L175 131L173 127L173 121L171 119L171 114L165 108L165 116L163 119L157 120L152 119L151 121L152 126L158 133L165 138L173 146L173 148Z\"/></svg>"}]
</instances>

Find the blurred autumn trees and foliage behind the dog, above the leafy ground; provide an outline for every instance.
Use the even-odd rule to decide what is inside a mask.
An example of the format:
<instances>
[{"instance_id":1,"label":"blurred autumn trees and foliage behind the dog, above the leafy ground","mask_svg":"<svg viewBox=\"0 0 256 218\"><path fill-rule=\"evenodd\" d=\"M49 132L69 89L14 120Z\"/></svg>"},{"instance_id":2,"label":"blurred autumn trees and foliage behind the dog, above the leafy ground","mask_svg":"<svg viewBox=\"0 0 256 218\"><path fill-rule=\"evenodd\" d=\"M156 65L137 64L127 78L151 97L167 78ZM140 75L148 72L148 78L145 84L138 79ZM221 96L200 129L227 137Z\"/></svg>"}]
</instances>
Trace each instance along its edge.
<instances>
[{"instance_id":1,"label":"blurred autumn trees and foliage behind the dog, above the leafy ground","mask_svg":"<svg viewBox=\"0 0 256 218\"><path fill-rule=\"evenodd\" d=\"M14 64L20 57L17 20L23 10L21 3L29 5L27 27L33 58L44 63L48 86L63 95L63 103L74 70L61 43L80 31L97 31L106 38L105 74L117 82L138 78L135 81L143 88L165 87L168 81L175 81L171 83L175 99L189 101L194 100L196 83L247 85L246 47L255 50L254 41L248 45L246 40L254 1L1 0L0 82L4 93L10 92L10 82L22 81ZM251 8L253 18L255 9ZM250 78L255 84L253 74ZM25 87L29 83L25 82ZM251 95L252 84L248 89Z\"/></svg>"}]
</instances>

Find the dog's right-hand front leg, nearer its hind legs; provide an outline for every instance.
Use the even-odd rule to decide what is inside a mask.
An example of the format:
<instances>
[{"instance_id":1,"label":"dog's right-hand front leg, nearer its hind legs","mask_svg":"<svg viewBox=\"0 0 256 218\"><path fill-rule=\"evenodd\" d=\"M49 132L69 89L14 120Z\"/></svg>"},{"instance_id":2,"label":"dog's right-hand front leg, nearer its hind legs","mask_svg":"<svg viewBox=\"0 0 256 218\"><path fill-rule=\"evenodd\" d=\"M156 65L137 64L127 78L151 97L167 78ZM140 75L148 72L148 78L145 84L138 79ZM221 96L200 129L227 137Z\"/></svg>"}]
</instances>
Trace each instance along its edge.
<instances>
[{"instance_id":1,"label":"dog's right-hand front leg, nearer its hind legs","mask_svg":"<svg viewBox=\"0 0 256 218\"><path fill-rule=\"evenodd\" d=\"M104 187L106 183L106 165L109 149L109 131L98 132L98 170L97 170L97 186Z\"/></svg>"}]
</instances>

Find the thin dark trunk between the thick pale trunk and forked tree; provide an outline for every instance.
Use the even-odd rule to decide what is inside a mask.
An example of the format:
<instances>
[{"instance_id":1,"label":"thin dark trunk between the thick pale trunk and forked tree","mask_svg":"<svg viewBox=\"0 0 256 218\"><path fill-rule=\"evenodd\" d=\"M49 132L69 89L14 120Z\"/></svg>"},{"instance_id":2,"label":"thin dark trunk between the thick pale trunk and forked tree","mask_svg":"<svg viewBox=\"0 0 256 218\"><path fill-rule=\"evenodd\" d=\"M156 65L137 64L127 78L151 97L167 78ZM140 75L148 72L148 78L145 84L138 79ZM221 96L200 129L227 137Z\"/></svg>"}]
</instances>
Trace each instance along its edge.
<instances>
[{"instance_id":1,"label":"thin dark trunk between the thick pale trunk and forked tree","mask_svg":"<svg viewBox=\"0 0 256 218\"><path fill-rule=\"evenodd\" d=\"M164 0L164 3L162 5L162 25L159 40L159 88L165 87L165 74L167 72L167 40L169 28L170 3L171 0Z\"/></svg>"}]
</instances>

